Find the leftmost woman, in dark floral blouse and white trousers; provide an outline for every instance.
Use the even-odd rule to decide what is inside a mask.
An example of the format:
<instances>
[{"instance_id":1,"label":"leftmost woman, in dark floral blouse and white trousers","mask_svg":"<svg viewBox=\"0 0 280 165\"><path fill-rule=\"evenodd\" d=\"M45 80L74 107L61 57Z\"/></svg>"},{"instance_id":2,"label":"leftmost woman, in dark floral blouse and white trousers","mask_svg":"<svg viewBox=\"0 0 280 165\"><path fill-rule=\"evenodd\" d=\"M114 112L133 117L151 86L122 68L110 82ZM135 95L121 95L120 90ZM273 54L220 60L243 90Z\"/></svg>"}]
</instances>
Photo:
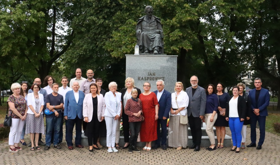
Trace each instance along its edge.
<instances>
[{"instance_id":1,"label":"leftmost woman, in dark floral blouse and white trousers","mask_svg":"<svg viewBox=\"0 0 280 165\"><path fill-rule=\"evenodd\" d=\"M12 125L9 133L9 145L10 152L18 152L22 150L18 146L20 136L24 126L24 120L27 116L27 103L23 96L20 95L21 85L19 83L13 83L11 85L12 95L9 96L7 103L9 105L9 116L12 116Z\"/></svg>"}]
</instances>

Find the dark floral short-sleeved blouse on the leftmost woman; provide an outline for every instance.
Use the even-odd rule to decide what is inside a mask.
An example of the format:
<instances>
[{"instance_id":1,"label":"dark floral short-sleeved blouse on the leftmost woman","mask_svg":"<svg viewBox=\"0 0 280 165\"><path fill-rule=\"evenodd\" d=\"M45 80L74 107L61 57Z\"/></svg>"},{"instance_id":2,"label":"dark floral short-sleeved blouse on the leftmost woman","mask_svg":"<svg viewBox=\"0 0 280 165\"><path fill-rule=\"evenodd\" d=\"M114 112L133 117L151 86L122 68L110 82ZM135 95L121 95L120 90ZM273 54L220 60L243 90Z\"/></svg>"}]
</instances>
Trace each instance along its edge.
<instances>
[{"instance_id":1,"label":"dark floral short-sleeved blouse on the leftmost woman","mask_svg":"<svg viewBox=\"0 0 280 165\"><path fill-rule=\"evenodd\" d=\"M26 100L24 99L23 96L20 95L19 98L16 98L14 95L10 95L10 97L7 100L7 103L11 102L15 104L15 109L23 116L25 113L25 105L26 105ZM9 116L12 113L12 118L13 119L20 119L15 113L12 112L11 108L9 107Z\"/></svg>"}]
</instances>

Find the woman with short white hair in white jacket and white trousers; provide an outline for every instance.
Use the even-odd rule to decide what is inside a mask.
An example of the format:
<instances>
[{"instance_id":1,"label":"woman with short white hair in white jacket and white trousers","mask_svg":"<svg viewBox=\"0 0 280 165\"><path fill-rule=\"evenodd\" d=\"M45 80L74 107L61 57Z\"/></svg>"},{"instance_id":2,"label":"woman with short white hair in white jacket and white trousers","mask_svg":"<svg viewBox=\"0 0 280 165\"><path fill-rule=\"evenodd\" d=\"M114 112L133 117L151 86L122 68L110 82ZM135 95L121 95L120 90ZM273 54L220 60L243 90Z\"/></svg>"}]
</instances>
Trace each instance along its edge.
<instances>
[{"instance_id":1,"label":"woman with short white hair in white jacket and white trousers","mask_svg":"<svg viewBox=\"0 0 280 165\"><path fill-rule=\"evenodd\" d=\"M107 129L107 147L108 152L118 152L115 148L115 138L116 138L116 128L118 126L118 119L120 117L121 111L121 99L120 95L116 94L117 83L110 82L109 89L110 91L105 94L105 121L106 121L106 129Z\"/></svg>"}]
</instances>

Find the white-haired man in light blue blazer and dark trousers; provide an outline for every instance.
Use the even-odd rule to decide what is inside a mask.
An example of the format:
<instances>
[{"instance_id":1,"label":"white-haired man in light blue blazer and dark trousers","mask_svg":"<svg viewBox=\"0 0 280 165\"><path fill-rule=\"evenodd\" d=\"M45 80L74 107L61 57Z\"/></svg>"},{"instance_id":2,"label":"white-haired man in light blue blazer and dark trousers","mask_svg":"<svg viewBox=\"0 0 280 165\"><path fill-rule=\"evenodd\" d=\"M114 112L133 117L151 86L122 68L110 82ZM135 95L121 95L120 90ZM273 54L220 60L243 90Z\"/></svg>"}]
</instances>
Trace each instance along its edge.
<instances>
[{"instance_id":1,"label":"white-haired man in light blue blazer and dark trousers","mask_svg":"<svg viewBox=\"0 0 280 165\"><path fill-rule=\"evenodd\" d=\"M67 122L67 137L66 142L69 150L73 150L73 129L76 124L76 138L75 145L78 148L84 148L81 145L82 138L82 121L83 121L83 101L85 94L79 91L80 85L78 82L73 82L71 91L65 95L64 102L64 117Z\"/></svg>"}]
</instances>

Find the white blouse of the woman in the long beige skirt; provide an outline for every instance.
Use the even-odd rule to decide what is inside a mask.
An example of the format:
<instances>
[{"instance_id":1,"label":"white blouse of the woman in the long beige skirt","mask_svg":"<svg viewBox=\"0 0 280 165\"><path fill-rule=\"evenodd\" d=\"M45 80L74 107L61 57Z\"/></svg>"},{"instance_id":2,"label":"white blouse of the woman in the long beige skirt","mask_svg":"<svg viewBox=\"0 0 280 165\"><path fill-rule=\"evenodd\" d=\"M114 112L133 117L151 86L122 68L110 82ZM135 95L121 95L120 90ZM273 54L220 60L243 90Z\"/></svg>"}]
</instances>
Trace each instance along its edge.
<instances>
[{"instance_id":1,"label":"white blouse of the woman in the long beige skirt","mask_svg":"<svg viewBox=\"0 0 280 165\"><path fill-rule=\"evenodd\" d=\"M180 113L181 115L185 116L187 114L187 107L189 105L189 96L187 92L184 91L181 91L178 95L176 93L177 92L171 94L171 107L174 109L179 109L184 107L184 109L181 110ZM177 103L176 103L176 97L177 97ZM180 115L180 113L178 113L177 115ZM170 113L170 116L175 116L175 114Z\"/></svg>"}]
</instances>

